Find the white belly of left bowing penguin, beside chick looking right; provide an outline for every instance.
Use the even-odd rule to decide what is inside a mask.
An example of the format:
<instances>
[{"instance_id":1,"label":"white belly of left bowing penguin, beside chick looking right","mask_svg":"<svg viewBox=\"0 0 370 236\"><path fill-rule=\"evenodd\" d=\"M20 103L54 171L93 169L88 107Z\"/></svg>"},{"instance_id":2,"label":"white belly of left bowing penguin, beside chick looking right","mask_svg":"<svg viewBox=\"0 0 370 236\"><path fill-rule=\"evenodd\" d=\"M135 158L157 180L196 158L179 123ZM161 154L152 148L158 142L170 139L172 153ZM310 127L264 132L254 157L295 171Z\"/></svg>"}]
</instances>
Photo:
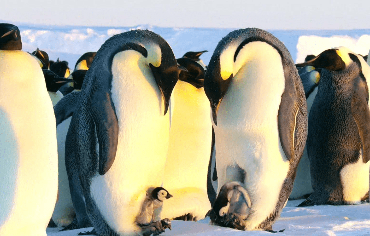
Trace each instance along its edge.
<instances>
[{"instance_id":1,"label":"white belly of left bowing penguin, beside chick looking right","mask_svg":"<svg viewBox=\"0 0 370 236\"><path fill-rule=\"evenodd\" d=\"M150 68L135 61L139 56L131 51L117 53L112 62L111 93L119 127L115 160L90 186L100 213L120 235L138 230L134 220L147 189L162 185L169 143L169 114L163 115L158 85Z\"/></svg>"}]
</instances>

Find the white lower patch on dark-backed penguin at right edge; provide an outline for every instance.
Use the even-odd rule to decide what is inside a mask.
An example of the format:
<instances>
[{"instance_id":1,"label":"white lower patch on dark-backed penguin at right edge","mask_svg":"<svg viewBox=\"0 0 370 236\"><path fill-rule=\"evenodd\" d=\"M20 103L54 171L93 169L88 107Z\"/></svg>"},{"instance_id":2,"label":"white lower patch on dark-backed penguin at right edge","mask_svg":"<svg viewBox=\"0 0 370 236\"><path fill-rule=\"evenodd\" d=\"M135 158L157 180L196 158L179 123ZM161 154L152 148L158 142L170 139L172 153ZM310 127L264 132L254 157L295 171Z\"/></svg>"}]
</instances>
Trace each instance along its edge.
<instances>
[{"instance_id":1,"label":"white lower patch on dark-backed penguin at right edge","mask_svg":"<svg viewBox=\"0 0 370 236\"><path fill-rule=\"evenodd\" d=\"M370 162L363 163L362 150L359 160L349 163L340 170L340 181L343 186L343 200L348 204L360 204L361 199L369 192Z\"/></svg>"}]
</instances>

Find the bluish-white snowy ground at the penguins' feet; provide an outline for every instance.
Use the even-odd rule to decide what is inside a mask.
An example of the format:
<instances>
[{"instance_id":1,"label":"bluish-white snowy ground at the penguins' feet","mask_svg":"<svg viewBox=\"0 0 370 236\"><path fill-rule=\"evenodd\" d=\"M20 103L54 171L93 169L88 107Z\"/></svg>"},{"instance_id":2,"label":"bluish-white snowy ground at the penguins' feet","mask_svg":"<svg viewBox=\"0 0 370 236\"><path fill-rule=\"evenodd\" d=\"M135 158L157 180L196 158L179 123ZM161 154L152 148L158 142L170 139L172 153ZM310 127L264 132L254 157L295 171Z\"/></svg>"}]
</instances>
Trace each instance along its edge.
<instances>
[{"instance_id":1,"label":"bluish-white snowy ground at the penguins' feet","mask_svg":"<svg viewBox=\"0 0 370 236\"><path fill-rule=\"evenodd\" d=\"M273 230L285 229L277 236L365 236L370 235L370 204L350 206L296 207L303 200L288 201ZM92 228L58 232L61 228L48 228L47 236L75 236ZM209 225L209 218L198 222L172 221L172 231L166 229L161 236L248 236L271 235L265 231L240 231Z\"/></svg>"}]
</instances>

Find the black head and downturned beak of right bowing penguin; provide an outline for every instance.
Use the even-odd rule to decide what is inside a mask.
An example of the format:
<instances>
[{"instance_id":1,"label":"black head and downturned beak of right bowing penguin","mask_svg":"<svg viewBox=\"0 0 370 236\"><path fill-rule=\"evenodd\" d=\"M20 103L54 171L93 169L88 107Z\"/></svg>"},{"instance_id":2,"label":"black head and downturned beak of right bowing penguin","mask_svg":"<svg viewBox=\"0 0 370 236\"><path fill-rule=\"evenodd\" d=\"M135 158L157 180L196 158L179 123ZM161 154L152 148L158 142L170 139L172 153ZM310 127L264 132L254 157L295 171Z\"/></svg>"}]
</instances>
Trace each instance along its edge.
<instances>
[{"instance_id":1,"label":"black head and downturned beak of right bowing penguin","mask_svg":"<svg viewBox=\"0 0 370 236\"><path fill-rule=\"evenodd\" d=\"M217 62L216 62L217 63ZM221 77L220 65L216 65L214 70L207 70L204 76L204 91L211 103L212 118L217 125L217 112L220 107L223 96L229 88L233 74L226 80Z\"/></svg>"}]
</instances>

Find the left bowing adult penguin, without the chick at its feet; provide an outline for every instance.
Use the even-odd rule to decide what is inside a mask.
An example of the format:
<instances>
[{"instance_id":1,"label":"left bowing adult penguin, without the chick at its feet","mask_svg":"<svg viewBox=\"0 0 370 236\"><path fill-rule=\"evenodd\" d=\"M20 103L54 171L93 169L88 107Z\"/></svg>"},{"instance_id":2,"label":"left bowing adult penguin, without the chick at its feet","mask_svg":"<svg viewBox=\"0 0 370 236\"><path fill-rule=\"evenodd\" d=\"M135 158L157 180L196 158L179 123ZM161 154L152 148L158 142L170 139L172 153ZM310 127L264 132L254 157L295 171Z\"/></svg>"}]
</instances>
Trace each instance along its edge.
<instances>
[{"instance_id":1,"label":"left bowing adult penguin, without the chick at its feet","mask_svg":"<svg viewBox=\"0 0 370 236\"><path fill-rule=\"evenodd\" d=\"M140 230L134 221L146 191L163 182L178 76L171 47L148 30L112 36L97 51L68 129L65 161L73 169L72 200L85 203L98 235Z\"/></svg>"}]
</instances>

